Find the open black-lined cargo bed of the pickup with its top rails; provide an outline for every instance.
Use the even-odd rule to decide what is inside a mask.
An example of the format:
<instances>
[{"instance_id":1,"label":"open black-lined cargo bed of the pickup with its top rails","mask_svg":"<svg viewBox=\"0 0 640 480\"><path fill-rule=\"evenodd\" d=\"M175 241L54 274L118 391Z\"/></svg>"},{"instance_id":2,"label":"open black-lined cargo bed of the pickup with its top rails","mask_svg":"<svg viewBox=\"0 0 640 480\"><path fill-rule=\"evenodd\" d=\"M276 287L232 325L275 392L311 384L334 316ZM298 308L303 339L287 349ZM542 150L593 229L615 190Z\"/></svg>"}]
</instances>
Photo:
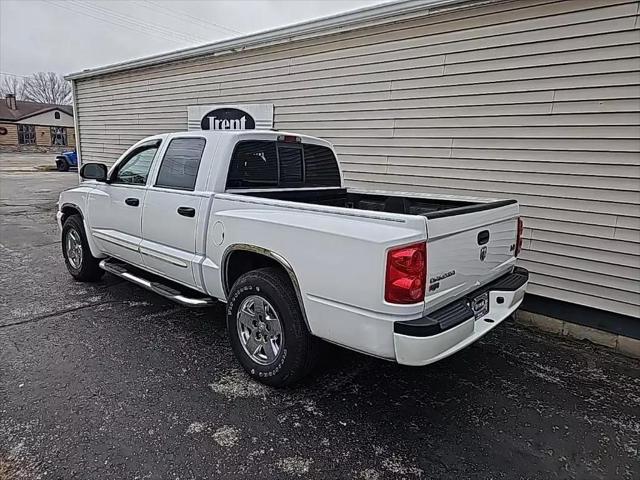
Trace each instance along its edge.
<instances>
[{"instance_id":1,"label":"open black-lined cargo bed of the pickup with its top rails","mask_svg":"<svg viewBox=\"0 0 640 480\"><path fill-rule=\"evenodd\" d=\"M377 212L401 213L406 215L423 215L427 218L472 213L489 208L497 208L516 203L515 200L498 201L463 201L445 199L437 196L382 191L354 190L347 188L332 189L296 189L296 190L262 190L234 192L274 200L327 205L333 207L353 208Z\"/></svg>"}]
</instances>

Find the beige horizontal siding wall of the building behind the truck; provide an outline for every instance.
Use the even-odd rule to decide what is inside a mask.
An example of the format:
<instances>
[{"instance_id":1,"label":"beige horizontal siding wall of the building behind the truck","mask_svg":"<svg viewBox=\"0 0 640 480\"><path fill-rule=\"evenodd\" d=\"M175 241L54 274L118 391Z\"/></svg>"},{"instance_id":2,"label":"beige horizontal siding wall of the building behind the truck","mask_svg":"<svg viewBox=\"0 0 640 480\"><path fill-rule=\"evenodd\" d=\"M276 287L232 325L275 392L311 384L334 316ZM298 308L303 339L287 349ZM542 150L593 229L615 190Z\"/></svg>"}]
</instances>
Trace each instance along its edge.
<instances>
[{"instance_id":1,"label":"beige horizontal siding wall of the building behind the truck","mask_svg":"<svg viewBox=\"0 0 640 480\"><path fill-rule=\"evenodd\" d=\"M494 3L77 84L83 161L273 102L350 185L515 197L529 291L640 316L639 2Z\"/></svg>"}]
</instances>

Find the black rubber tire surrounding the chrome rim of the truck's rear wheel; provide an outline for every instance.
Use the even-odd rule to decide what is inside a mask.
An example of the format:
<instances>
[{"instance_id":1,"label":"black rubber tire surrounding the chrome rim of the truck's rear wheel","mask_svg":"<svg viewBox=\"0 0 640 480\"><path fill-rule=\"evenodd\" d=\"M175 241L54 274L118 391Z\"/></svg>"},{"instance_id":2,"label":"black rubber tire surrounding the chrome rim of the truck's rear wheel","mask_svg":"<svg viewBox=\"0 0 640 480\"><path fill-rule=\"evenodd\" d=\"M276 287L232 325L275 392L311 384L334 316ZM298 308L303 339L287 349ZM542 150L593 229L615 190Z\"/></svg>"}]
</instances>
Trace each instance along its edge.
<instances>
[{"instance_id":1,"label":"black rubber tire surrounding the chrome rim of the truck's rear wheel","mask_svg":"<svg viewBox=\"0 0 640 480\"><path fill-rule=\"evenodd\" d=\"M238 309L250 296L267 300L283 330L282 346L269 365L254 361L241 344ZM261 268L242 275L227 302L227 329L233 353L251 377L272 387L285 387L305 377L315 366L320 340L309 332L288 276L277 268Z\"/></svg>"}]
</instances>

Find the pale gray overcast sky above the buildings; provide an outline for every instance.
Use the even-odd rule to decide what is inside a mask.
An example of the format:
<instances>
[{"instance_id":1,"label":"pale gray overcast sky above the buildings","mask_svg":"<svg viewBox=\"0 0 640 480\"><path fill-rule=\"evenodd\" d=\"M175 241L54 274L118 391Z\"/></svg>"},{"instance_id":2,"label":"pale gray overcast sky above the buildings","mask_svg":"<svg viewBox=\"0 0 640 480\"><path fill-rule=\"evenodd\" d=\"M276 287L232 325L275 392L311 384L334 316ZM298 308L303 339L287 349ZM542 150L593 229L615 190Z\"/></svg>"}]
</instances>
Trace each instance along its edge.
<instances>
[{"instance_id":1,"label":"pale gray overcast sky above the buildings","mask_svg":"<svg viewBox=\"0 0 640 480\"><path fill-rule=\"evenodd\" d=\"M0 72L62 74L389 0L0 0Z\"/></svg>"}]
</instances>

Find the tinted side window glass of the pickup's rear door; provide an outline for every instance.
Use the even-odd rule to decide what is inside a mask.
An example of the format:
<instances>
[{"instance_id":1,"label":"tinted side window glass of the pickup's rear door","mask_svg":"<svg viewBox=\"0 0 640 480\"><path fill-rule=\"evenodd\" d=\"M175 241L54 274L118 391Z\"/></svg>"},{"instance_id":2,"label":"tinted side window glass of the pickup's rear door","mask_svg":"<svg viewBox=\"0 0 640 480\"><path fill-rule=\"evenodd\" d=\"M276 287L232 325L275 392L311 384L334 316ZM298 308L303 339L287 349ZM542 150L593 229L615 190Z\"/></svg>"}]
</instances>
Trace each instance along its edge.
<instances>
[{"instance_id":1,"label":"tinted side window glass of the pickup's rear door","mask_svg":"<svg viewBox=\"0 0 640 480\"><path fill-rule=\"evenodd\" d=\"M194 190L204 138L174 138L162 159L156 187Z\"/></svg>"}]
</instances>

